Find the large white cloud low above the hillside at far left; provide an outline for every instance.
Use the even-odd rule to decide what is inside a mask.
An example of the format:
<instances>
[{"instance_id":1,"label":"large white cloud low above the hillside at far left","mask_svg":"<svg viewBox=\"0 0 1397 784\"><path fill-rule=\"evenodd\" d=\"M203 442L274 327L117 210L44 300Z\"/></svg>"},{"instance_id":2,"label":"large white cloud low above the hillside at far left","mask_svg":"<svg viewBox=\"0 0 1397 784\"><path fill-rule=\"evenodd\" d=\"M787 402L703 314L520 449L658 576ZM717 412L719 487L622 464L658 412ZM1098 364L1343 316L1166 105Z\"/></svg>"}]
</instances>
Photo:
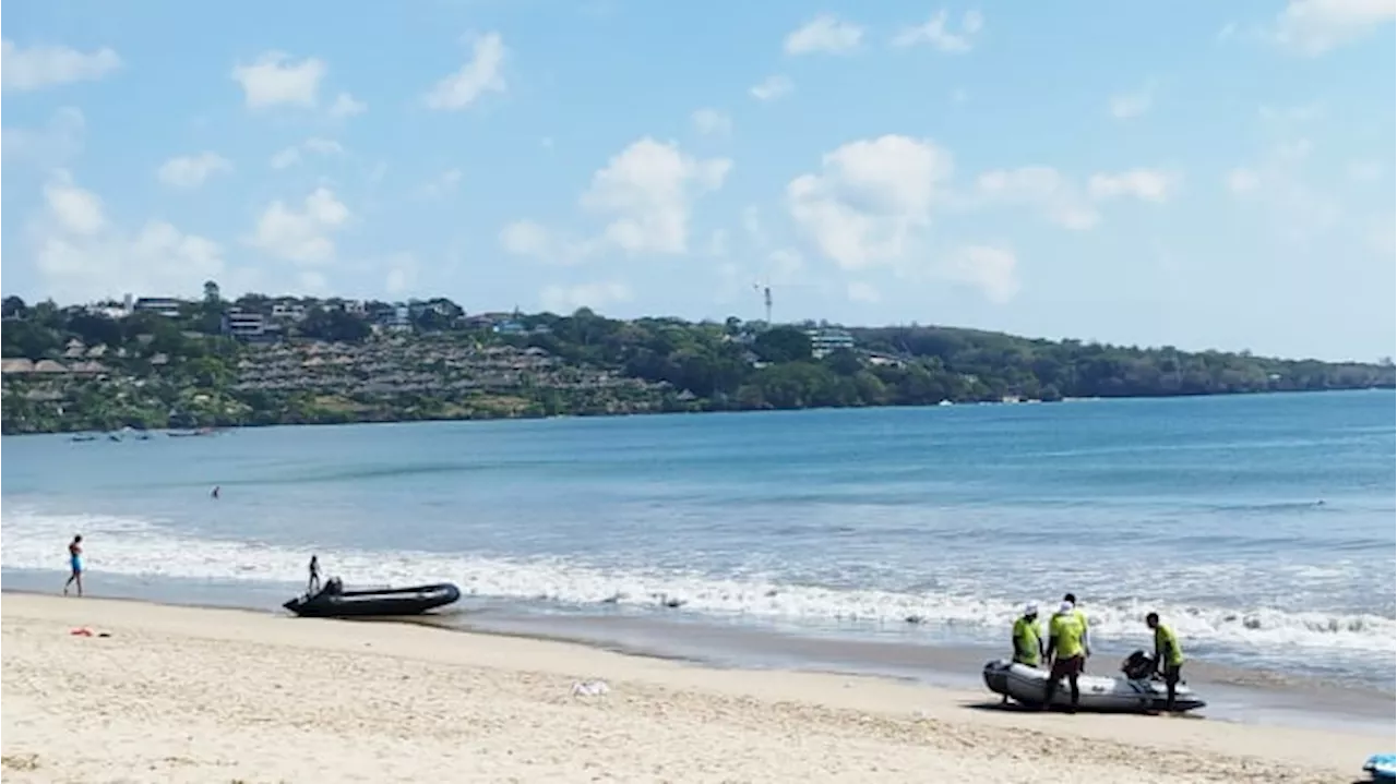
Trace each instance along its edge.
<instances>
[{"instance_id":1,"label":"large white cloud low above the hillside at far left","mask_svg":"<svg viewBox=\"0 0 1397 784\"><path fill-rule=\"evenodd\" d=\"M54 294L92 300L126 292L193 292L225 271L222 248L163 220L134 236L112 225L102 198L57 172L29 226L34 262Z\"/></svg>"}]
</instances>

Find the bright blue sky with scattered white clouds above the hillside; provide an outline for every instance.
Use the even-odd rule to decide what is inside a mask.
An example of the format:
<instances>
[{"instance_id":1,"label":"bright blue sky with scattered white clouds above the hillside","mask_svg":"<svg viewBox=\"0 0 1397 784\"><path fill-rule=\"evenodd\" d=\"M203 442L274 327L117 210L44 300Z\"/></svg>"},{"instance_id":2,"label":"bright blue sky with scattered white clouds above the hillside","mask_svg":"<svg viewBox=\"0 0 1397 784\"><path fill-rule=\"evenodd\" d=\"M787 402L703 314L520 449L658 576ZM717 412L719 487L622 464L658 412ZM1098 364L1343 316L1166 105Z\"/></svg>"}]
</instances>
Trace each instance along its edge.
<instances>
[{"instance_id":1,"label":"bright blue sky with scattered white clouds above the hillside","mask_svg":"<svg viewBox=\"0 0 1397 784\"><path fill-rule=\"evenodd\" d=\"M8 0L0 292L1397 354L1397 0Z\"/></svg>"}]
</instances>

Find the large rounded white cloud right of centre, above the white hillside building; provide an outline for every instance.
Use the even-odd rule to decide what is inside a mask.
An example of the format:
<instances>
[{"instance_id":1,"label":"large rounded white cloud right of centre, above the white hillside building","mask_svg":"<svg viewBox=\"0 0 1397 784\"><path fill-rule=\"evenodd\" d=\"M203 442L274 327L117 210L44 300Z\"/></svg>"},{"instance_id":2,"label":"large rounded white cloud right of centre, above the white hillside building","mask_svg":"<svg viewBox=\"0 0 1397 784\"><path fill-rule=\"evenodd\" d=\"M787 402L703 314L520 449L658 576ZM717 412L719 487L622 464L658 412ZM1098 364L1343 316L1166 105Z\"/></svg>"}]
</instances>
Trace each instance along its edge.
<instances>
[{"instance_id":1,"label":"large rounded white cloud right of centre, above the white hillside building","mask_svg":"<svg viewBox=\"0 0 1397 784\"><path fill-rule=\"evenodd\" d=\"M951 156L929 140L884 135L824 155L817 174L787 186L791 218L847 269L895 262L928 226Z\"/></svg>"}]
</instances>

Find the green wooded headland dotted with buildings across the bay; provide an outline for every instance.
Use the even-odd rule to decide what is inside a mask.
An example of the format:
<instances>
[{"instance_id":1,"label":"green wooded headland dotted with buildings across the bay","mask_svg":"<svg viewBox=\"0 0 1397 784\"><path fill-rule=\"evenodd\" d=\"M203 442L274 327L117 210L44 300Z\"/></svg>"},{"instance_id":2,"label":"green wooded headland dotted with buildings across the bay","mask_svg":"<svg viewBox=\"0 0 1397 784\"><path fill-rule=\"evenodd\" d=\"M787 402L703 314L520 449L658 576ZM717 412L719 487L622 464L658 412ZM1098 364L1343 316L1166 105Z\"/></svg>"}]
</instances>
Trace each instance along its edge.
<instances>
[{"instance_id":1,"label":"green wooded headland dotted with buildings across the bay","mask_svg":"<svg viewBox=\"0 0 1397 784\"><path fill-rule=\"evenodd\" d=\"M0 300L0 434L1397 388L1397 365L943 326L467 314L247 294Z\"/></svg>"}]
</instances>

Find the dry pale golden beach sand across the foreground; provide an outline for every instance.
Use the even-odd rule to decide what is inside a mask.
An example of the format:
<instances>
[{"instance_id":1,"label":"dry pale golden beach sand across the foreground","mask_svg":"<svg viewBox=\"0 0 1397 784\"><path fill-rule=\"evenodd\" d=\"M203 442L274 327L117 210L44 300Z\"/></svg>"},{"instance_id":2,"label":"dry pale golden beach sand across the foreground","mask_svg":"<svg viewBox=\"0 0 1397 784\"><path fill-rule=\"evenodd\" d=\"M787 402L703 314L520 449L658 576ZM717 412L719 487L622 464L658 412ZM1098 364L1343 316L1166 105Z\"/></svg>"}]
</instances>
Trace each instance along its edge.
<instances>
[{"instance_id":1,"label":"dry pale golden beach sand across the foreground","mask_svg":"<svg viewBox=\"0 0 1397 784\"><path fill-rule=\"evenodd\" d=\"M73 636L88 628L101 636ZM574 696L577 681L609 692ZM0 781L1334 783L1375 735L419 625L0 596Z\"/></svg>"}]
</instances>

